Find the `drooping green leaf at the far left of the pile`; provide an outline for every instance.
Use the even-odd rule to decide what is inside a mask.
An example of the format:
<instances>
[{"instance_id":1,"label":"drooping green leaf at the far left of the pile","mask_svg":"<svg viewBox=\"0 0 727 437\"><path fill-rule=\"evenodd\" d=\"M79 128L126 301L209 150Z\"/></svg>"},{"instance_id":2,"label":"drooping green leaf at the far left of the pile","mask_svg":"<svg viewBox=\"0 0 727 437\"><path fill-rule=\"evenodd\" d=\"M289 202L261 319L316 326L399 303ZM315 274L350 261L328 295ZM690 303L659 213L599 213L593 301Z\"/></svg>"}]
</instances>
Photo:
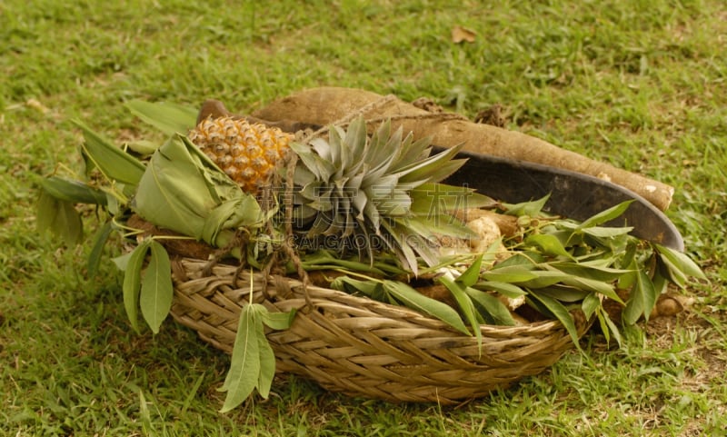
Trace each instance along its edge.
<instances>
[{"instance_id":1,"label":"drooping green leaf at the far left of the pile","mask_svg":"<svg viewBox=\"0 0 727 437\"><path fill-rule=\"evenodd\" d=\"M45 190L41 190L36 211L36 225L39 232L50 231L60 236L69 246L81 242L84 223L73 204L58 200Z\"/></svg>"}]
</instances>

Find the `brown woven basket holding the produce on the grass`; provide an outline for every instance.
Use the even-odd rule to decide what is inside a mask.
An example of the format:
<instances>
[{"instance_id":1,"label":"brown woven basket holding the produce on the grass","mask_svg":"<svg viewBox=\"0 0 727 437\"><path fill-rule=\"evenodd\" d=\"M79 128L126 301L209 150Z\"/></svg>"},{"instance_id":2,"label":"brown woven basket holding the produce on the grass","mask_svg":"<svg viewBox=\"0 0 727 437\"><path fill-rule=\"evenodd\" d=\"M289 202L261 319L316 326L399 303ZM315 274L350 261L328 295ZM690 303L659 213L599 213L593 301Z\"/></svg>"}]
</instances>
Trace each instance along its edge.
<instances>
[{"instance_id":1,"label":"brown woven basket holding the produce on the grass","mask_svg":"<svg viewBox=\"0 0 727 437\"><path fill-rule=\"evenodd\" d=\"M267 333L276 371L318 382L332 392L392 402L463 402L547 369L573 347L563 325L481 327L475 337L404 307L379 303L287 277L253 273L254 302L270 311L298 310L292 327ZM204 341L232 351L251 273L183 258L173 263L172 315ZM307 293L307 295L306 295ZM583 334L593 321L576 314Z\"/></svg>"}]
</instances>

